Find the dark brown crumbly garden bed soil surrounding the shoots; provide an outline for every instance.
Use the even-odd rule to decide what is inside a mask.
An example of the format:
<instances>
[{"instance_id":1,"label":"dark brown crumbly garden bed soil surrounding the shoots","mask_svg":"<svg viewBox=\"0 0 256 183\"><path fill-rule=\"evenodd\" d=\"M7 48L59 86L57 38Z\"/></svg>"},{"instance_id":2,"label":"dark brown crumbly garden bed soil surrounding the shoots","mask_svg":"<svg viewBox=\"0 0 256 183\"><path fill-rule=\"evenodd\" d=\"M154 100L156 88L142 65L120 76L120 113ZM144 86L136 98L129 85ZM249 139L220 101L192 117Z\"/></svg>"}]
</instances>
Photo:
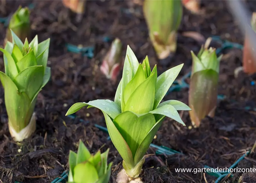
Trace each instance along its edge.
<instances>
[{"instance_id":1,"label":"dark brown crumbly garden bed soil surrounding the shoots","mask_svg":"<svg viewBox=\"0 0 256 183\"><path fill-rule=\"evenodd\" d=\"M3 2L3 1L2 1ZM20 1L6 1L0 5L0 15L14 12ZM108 134L94 127L105 126L103 114L95 108L77 112L78 119L65 117L69 107L76 102L96 99L114 99L117 83L105 79L99 65L109 49L111 42L102 38L118 37L123 43L122 59L126 46L130 45L139 61L146 55L151 66L158 64L158 74L170 67L184 63L178 79L191 69L190 50L198 53L201 42L182 36L185 31L197 31L205 38L220 35L222 39L243 44L239 27L228 13L222 0L204 0L202 15L192 15L184 10L179 29L177 53L172 58L159 61L148 39L148 30L142 15L142 1L112 0L87 1L85 15L80 23L75 22L75 14L67 10L60 0L23 0L23 5L34 3L31 10L32 36L38 34L39 40L51 38L49 62L52 77L38 96L36 105L37 130L34 135L16 143L11 140L7 125L4 104L4 91L0 89L0 177L3 182L23 181L26 183L49 183L68 169L69 150L76 151L79 139L85 142L90 152L110 148L109 162L113 161L112 177L114 182L122 168L122 158L107 140ZM248 0L250 9L256 10L256 3ZM3 45L5 27L0 24L0 40ZM70 53L65 45L95 47L92 59L81 54ZM0 69L4 71L2 55ZM218 102L216 116L205 118L200 128L191 125L188 112L180 112L186 127L166 119L157 138L153 141L183 155L156 156L150 148L143 166L142 180L145 183L205 182L203 172L175 172L175 168L213 168L229 167L255 140L256 112L245 110L245 106L256 107L256 89L251 85L256 75L239 73L234 77L234 69L241 66L242 51L231 49L224 52L220 64L219 94L226 98ZM119 75L118 81L120 81ZM189 79L186 79L189 83ZM168 94L164 100L180 100L187 104L188 89ZM216 178L206 175L208 182Z\"/></svg>"}]
</instances>

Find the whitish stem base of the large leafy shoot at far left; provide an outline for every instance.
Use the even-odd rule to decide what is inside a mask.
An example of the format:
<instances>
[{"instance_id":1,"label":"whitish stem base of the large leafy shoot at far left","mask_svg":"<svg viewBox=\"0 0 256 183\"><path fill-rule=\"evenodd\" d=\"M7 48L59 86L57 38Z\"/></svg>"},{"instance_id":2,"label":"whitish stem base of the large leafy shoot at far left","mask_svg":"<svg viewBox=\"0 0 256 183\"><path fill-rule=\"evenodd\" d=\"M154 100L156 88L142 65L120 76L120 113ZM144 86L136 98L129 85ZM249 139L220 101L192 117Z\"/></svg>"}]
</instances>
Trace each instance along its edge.
<instances>
[{"instance_id":1,"label":"whitish stem base of the large leafy shoot at far left","mask_svg":"<svg viewBox=\"0 0 256 183\"><path fill-rule=\"evenodd\" d=\"M30 137L32 133L36 130L36 113L34 112L28 126L23 128L20 132L16 132L14 128L11 126L11 123L8 122L9 126L9 132L11 134L11 137L16 142L21 142L22 140Z\"/></svg>"}]
</instances>

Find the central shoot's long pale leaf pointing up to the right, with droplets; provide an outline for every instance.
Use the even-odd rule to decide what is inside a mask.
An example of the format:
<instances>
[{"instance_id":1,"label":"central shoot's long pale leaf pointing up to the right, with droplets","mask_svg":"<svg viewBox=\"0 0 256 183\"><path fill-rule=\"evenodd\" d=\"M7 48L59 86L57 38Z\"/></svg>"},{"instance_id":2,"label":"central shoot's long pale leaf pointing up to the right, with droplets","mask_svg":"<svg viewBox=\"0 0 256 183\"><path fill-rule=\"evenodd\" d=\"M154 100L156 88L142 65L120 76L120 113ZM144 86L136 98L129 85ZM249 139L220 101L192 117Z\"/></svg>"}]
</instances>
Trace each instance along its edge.
<instances>
[{"instance_id":1,"label":"central shoot's long pale leaf pointing up to the right, with droplets","mask_svg":"<svg viewBox=\"0 0 256 183\"><path fill-rule=\"evenodd\" d=\"M157 78L157 85L156 85L156 92L155 92L155 102L154 102L154 109L157 108L158 104L161 102L161 100L164 98L165 94L171 87L171 84L178 76L182 66L184 64L180 64L176 67L173 67L164 73L162 73Z\"/></svg>"}]
</instances>

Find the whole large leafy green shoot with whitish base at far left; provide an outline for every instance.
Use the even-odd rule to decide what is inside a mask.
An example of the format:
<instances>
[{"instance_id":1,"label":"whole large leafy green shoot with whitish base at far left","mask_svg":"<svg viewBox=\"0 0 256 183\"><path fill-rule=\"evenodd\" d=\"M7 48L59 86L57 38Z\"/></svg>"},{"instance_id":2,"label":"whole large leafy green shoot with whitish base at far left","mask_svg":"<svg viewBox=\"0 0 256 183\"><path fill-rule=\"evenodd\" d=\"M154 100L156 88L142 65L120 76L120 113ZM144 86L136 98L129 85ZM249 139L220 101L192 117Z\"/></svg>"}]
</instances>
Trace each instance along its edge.
<instances>
[{"instance_id":1,"label":"whole large leafy green shoot with whitish base at far left","mask_svg":"<svg viewBox=\"0 0 256 183\"><path fill-rule=\"evenodd\" d=\"M50 79L50 67L46 66L50 39L38 44L36 36L23 44L13 31L11 35L12 43L7 41L5 49L0 48L5 66L0 79L10 134L15 141L22 141L36 130L36 99Z\"/></svg>"}]
</instances>

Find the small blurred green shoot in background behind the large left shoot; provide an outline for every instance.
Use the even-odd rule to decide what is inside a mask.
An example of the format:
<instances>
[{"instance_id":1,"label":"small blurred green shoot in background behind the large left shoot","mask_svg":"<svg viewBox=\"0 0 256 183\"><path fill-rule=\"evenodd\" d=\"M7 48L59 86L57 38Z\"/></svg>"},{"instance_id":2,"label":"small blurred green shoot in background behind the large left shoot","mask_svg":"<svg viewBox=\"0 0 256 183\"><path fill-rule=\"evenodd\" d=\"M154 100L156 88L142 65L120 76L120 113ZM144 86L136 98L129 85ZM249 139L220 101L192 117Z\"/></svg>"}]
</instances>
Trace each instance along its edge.
<instances>
[{"instance_id":1,"label":"small blurred green shoot in background behind the large left shoot","mask_svg":"<svg viewBox=\"0 0 256 183\"><path fill-rule=\"evenodd\" d=\"M26 38L30 39L30 12L29 9L22 8L21 6L12 15L10 19L9 26L6 31L6 41L12 41L11 30L22 40L25 41Z\"/></svg>"}]
</instances>

